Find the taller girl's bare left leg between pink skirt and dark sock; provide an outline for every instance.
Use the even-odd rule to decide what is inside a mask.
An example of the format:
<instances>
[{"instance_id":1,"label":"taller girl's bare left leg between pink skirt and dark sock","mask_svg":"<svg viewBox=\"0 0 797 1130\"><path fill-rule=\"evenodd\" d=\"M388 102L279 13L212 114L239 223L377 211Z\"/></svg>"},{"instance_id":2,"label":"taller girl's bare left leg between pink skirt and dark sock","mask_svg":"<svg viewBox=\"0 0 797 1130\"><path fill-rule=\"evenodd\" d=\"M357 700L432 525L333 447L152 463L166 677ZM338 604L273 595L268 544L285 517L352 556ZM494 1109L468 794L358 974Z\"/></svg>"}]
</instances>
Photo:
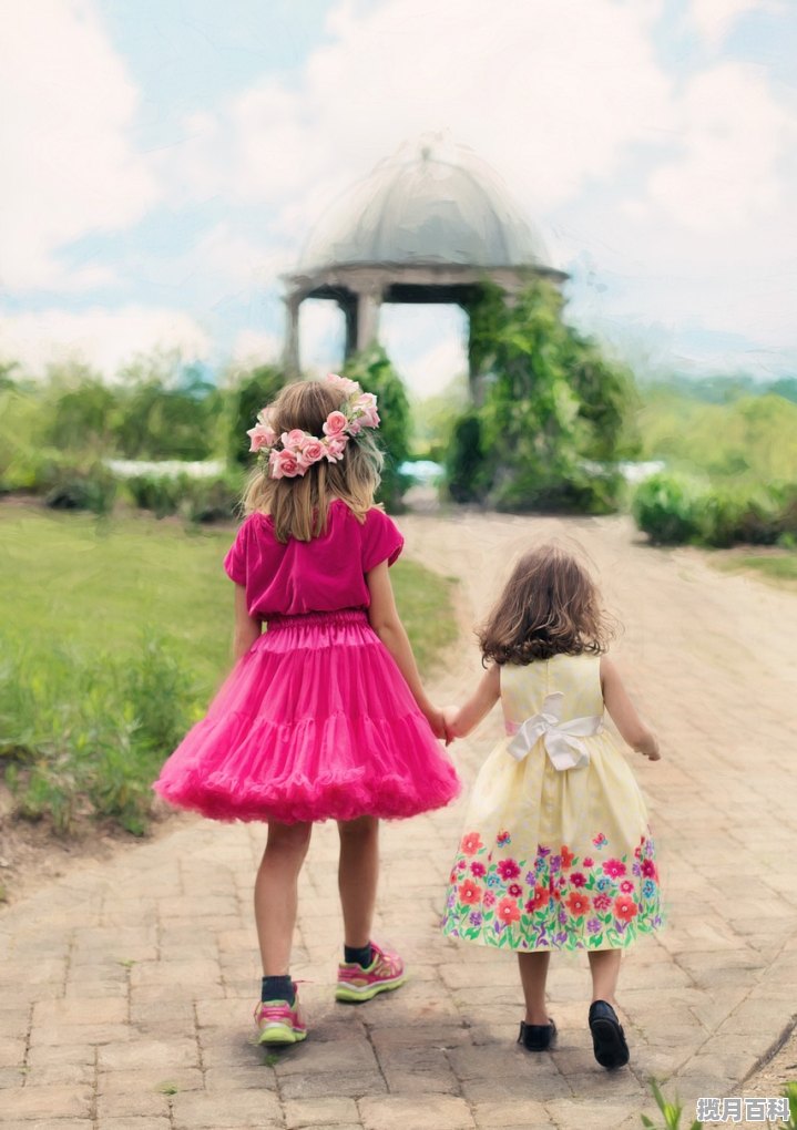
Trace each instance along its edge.
<instances>
[{"instance_id":1,"label":"taller girl's bare left leg between pink skirt and dark sock","mask_svg":"<svg viewBox=\"0 0 797 1130\"><path fill-rule=\"evenodd\" d=\"M312 827L274 820L268 826L268 842L254 881L254 921L265 976L285 976L291 966L298 872Z\"/></svg>"}]
</instances>

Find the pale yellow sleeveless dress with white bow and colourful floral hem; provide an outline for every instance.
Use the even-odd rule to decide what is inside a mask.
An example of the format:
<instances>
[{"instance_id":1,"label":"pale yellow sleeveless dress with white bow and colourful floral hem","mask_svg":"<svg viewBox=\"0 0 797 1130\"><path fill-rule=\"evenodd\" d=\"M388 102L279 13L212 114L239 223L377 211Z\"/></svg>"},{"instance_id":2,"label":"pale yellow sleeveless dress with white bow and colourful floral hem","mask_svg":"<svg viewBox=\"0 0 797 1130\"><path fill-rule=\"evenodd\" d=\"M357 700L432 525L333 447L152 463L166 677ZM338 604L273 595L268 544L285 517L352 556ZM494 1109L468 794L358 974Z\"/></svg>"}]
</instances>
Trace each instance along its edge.
<instances>
[{"instance_id":1,"label":"pale yellow sleeveless dress with white bow and colourful floral hem","mask_svg":"<svg viewBox=\"0 0 797 1130\"><path fill-rule=\"evenodd\" d=\"M600 659L501 667L506 737L482 766L443 932L502 949L613 949L661 923L644 800L604 729Z\"/></svg>"}]
</instances>

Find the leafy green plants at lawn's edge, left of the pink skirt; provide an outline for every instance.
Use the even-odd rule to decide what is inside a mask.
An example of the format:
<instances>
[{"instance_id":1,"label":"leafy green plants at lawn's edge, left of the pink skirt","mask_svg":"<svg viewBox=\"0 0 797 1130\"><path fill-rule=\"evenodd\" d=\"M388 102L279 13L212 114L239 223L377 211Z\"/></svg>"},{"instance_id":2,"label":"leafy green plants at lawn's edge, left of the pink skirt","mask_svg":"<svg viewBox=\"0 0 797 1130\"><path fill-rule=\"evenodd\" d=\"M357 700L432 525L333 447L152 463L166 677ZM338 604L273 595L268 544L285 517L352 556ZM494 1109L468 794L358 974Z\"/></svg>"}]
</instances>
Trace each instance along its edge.
<instances>
[{"instance_id":1,"label":"leafy green plants at lawn's edge, left of the pink skirt","mask_svg":"<svg viewBox=\"0 0 797 1130\"><path fill-rule=\"evenodd\" d=\"M61 833L93 816L141 835L150 783L199 706L181 663L151 634L132 661L55 649L46 671L3 643L0 763L17 815Z\"/></svg>"}]
</instances>

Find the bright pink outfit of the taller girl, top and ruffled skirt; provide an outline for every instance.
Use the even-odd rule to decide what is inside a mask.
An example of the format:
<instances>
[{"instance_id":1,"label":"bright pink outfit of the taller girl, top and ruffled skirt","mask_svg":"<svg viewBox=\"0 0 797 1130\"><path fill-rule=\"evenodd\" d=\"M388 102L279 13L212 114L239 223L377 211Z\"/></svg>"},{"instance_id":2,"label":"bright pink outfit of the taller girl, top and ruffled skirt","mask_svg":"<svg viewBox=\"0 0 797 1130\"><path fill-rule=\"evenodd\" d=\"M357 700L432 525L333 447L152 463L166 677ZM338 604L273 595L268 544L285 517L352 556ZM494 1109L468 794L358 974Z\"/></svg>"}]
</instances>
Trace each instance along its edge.
<instances>
[{"instance_id":1,"label":"bright pink outfit of the taller girl, top and ruffled skirt","mask_svg":"<svg viewBox=\"0 0 797 1130\"><path fill-rule=\"evenodd\" d=\"M164 765L155 790L219 820L406 817L459 792L454 768L369 624L365 574L404 539L340 499L309 542L251 514L225 558L266 631Z\"/></svg>"}]
</instances>

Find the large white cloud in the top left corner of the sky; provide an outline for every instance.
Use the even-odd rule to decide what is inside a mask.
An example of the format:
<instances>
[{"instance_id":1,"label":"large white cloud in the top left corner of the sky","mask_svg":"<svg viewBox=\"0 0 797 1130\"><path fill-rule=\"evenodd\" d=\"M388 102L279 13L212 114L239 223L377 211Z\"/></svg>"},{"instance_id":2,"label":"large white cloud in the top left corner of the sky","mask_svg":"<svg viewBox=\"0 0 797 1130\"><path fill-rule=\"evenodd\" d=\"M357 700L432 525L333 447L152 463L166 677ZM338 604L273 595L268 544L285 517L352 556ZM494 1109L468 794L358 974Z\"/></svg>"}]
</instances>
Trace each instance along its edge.
<instances>
[{"instance_id":1,"label":"large white cloud in the top left corner of the sky","mask_svg":"<svg viewBox=\"0 0 797 1130\"><path fill-rule=\"evenodd\" d=\"M156 199L130 140L138 95L90 0L0 5L0 277L9 289L109 281L59 249ZM99 270L99 275L97 271Z\"/></svg>"}]
</instances>

